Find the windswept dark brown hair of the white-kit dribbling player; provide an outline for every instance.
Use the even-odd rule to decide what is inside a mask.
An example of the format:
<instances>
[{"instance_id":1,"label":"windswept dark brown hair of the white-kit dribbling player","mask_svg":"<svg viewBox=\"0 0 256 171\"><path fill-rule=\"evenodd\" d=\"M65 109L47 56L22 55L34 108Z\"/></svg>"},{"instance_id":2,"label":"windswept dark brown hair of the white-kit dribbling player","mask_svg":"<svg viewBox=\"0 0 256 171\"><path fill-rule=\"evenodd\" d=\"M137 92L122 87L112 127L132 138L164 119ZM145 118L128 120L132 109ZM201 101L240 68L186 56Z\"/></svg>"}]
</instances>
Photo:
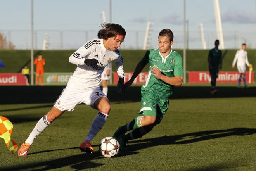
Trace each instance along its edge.
<instances>
[{"instance_id":1,"label":"windswept dark brown hair of the white-kit dribbling player","mask_svg":"<svg viewBox=\"0 0 256 171\"><path fill-rule=\"evenodd\" d=\"M103 30L100 33L101 38L107 40L110 37L114 37L117 35L123 35L123 39L125 39L125 29L119 25L114 23L101 23L100 26L102 26Z\"/></svg>"}]
</instances>

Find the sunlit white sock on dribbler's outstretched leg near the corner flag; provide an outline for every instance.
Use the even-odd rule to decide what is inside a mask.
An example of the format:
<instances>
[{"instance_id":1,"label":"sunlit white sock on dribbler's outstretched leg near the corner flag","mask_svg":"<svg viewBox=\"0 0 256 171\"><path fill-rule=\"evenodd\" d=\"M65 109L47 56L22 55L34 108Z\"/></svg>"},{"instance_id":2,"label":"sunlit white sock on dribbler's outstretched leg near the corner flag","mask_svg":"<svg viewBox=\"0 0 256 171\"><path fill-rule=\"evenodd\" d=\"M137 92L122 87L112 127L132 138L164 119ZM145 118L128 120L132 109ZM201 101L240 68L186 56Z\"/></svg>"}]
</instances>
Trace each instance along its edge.
<instances>
[{"instance_id":1,"label":"sunlit white sock on dribbler's outstretched leg near the corner flag","mask_svg":"<svg viewBox=\"0 0 256 171\"><path fill-rule=\"evenodd\" d=\"M50 122L47 120L46 115L43 116L41 119L39 119L36 126L34 127L34 129L32 130L28 139L26 139L25 142L32 145L36 136L38 136L49 124Z\"/></svg>"}]
</instances>

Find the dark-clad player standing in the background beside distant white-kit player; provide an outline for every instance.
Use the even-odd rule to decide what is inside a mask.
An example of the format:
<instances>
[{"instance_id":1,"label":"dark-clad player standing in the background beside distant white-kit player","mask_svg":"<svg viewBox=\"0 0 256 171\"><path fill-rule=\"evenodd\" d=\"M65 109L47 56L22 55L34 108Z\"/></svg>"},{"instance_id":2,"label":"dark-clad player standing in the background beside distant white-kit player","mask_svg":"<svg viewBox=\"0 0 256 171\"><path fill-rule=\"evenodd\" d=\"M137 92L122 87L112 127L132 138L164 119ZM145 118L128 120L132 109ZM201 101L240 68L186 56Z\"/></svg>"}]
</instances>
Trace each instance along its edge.
<instances>
[{"instance_id":1,"label":"dark-clad player standing in the background beside distant white-kit player","mask_svg":"<svg viewBox=\"0 0 256 171\"><path fill-rule=\"evenodd\" d=\"M218 49L220 42L215 40L215 48L211 49L208 54L209 73L211 75L211 94L218 92L216 90L216 79L218 78L219 68L222 68L222 52Z\"/></svg>"}]
</instances>

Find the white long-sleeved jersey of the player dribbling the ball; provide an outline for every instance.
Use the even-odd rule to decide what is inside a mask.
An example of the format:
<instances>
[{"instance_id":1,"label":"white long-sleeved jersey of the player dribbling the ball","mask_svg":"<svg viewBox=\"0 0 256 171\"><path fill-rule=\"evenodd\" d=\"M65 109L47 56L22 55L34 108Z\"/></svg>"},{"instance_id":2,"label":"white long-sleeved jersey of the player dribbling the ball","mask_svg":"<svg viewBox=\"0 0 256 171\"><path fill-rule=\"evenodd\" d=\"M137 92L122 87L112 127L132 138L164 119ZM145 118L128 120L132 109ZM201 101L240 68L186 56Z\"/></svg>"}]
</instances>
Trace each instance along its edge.
<instances>
[{"instance_id":1,"label":"white long-sleeved jersey of the player dribbling the ball","mask_svg":"<svg viewBox=\"0 0 256 171\"><path fill-rule=\"evenodd\" d=\"M96 65L87 66L84 63L86 58L94 58L99 62ZM118 49L107 50L102 39L86 42L69 57L69 62L76 64L77 67L67 84L81 90L100 87L101 74L112 61L116 63L118 77L124 78L123 59Z\"/></svg>"}]
</instances>

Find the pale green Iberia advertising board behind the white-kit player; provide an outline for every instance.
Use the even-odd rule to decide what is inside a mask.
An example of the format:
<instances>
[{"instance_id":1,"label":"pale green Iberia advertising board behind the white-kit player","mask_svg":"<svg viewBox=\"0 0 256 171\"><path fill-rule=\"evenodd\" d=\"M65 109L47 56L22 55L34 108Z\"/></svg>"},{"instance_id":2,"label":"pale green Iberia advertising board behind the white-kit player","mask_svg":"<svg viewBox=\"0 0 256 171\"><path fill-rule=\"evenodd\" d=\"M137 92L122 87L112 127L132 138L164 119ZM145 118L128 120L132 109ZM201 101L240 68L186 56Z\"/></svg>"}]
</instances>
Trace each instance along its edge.
<instances>
[{"instance_id":1,"label":"pale green Iberia advertising board behind the white-kit player","mask_svg":"<svg viewBox=\"0 0 256 171\"><path fill-rule=\"evenodd\" d=\"M66 85L73 73L44 73L44 85Z\"/></svg>"}]
</instances>

